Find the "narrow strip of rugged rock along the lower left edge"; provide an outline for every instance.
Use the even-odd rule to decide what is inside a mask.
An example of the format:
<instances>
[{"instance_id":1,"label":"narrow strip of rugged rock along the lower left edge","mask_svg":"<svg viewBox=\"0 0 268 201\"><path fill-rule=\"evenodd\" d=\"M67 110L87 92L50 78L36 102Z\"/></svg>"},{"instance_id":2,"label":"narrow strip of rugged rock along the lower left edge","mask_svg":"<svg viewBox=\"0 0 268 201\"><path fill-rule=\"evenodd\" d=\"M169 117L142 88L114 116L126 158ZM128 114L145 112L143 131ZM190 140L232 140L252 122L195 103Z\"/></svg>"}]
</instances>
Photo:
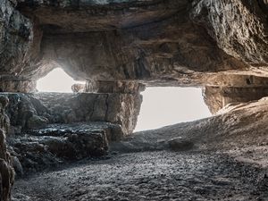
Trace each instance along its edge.
<instances>
[{"instance_id":1,"label":"narrow strip of rugged rock along the lower left edge","mask_svg":"<svg viewBox=\"0 0 268 201\"><path fill-rule=\"evenodd\" d=\"M11 200L11 189L13 187L14 172L12 167L12 157L6 149L5 134L9 127L9 119L4 113L8 105L8 99L0 96L0 200Z\"/></svg>"}]
</instances>

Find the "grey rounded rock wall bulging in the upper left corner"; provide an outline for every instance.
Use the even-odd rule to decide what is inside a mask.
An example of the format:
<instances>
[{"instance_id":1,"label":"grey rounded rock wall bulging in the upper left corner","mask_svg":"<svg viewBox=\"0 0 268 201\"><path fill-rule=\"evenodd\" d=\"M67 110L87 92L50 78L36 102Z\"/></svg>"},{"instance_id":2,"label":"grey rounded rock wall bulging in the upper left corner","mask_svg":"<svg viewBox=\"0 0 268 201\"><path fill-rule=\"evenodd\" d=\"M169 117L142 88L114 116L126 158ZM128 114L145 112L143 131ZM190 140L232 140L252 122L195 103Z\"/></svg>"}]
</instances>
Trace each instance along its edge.
<instances>
[{"instance_id":1,"label":"grey rounded rock wall bulging in the upper left corner","mask_svg":"<svg viewBox=\"0 0 268 201\"><path fill-rule=\"evenodd\" d=\"M25 74L35 71L31 63L37 62L41 32L14 7L16 1L0 3L0 73L1 80L23 80Z\"/></svg>"}]
</instances>

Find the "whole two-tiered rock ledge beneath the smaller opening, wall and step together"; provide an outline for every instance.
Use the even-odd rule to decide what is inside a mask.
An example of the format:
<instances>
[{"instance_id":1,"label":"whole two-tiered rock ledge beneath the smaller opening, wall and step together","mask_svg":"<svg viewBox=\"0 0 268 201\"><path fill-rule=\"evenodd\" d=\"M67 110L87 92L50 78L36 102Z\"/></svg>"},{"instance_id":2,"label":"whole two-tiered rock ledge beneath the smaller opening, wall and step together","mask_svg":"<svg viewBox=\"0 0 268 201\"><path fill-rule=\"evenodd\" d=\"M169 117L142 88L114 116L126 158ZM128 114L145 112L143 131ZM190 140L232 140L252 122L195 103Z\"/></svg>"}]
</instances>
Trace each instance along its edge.
<instances>
[{"instance_id":1,"label":"whole two-tiered rock ledge beneath the smaller opening, wall and step together","mask_svg":"<svg viewBox=\"0 0 268 201\"><path fill-rule=\"evenodd\" d=\"M18 175L106 155L134 130L141 102L134 92L1 96L10 102L8 148Z\"/></svg>"}]
</instances>

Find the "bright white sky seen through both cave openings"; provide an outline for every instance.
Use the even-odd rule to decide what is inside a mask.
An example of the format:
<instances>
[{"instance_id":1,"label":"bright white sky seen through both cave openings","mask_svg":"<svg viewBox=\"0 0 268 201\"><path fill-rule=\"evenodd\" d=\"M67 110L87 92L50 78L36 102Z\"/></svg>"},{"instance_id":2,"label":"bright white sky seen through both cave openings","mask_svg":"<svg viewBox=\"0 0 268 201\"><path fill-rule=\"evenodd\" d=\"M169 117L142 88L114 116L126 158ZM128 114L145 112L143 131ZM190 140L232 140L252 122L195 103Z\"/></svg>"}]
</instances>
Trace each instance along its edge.
<instances>
[{"instance_id":1,"label":"bright white sky seen through both cave openings","mask_svg":"<svg viewBox=\"0 0 268 201\"><path fill-rule=\"evenodd\" d=\"M38 80L38 91L71 92L71 86L83 83L73 80L61 68ZM210 116L201 88L147 88L138 115L135 131L153 130L183 121L194 121Z\"/></svg>"}]
</instances>

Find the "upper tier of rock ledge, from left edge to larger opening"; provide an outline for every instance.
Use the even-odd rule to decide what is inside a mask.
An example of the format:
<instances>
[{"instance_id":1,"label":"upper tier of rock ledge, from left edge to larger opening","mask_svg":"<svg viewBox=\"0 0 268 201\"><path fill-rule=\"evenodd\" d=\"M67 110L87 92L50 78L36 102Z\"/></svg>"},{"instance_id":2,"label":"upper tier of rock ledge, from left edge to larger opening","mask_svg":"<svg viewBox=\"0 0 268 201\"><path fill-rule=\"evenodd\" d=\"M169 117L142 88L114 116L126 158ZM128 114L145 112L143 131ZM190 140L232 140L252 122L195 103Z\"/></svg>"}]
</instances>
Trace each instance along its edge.
<instances>
[{"instance_id":1,"label":"upper tier of rock ledge, from left edge to larger opening","mask_svg":"<svg viewBox=\"0 0 268 201\"><path fill-rule=\"evenodd\" d=\"M10 99L10 133L21 133L48 123L106 121L121 125L124 135L136 126L142 101L139 94L2 93Z\"/></svg>"}]
</instances>

